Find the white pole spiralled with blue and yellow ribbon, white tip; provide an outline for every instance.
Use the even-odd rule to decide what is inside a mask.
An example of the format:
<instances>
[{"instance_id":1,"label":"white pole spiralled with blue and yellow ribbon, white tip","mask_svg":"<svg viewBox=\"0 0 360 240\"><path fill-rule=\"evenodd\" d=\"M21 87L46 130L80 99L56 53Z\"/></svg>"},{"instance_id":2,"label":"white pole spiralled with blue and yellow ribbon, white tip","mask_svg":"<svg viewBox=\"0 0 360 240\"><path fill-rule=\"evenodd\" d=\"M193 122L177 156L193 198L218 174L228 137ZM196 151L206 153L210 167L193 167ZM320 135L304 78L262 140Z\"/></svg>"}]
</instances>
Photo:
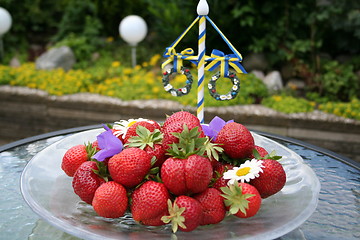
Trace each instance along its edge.
<instances>
[{"instance_id":1,"label":"white pole spiralled with blue and yellow ribbon, white tip","mask_svg":"<svg viewBox=\"0 0 360 240\"><path fill-rule=\"evenodd\" d=\"M200 123L204 123L204 79L205 79L205 39L206 39L206 18L209 13L209 5L206 0L200 0L197 6L199 20L199 41L198 41L198 89L197 89L197 117Z\"/></svg>"}]
</instances>

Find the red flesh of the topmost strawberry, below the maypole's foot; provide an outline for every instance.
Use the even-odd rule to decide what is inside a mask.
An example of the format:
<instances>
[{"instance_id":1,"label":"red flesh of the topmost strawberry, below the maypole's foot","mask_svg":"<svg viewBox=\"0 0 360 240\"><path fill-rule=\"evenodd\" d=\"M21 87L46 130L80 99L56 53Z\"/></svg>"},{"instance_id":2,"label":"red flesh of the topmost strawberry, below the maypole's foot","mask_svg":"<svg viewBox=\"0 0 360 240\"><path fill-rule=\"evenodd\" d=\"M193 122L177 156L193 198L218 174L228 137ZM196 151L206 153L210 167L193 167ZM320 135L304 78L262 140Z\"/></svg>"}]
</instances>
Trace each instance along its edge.
<instances>
[{"instance_id":1,"label":"red flesh of the topmost strawberry, below the maypole's foot","mask_svg":"<svg viewBox=\"0 0 360 240\"><path fill-rule=\"evenodd\" d=\"M199 137L205 137L200 121L195 115L186 111L176 112L165 120L162 127L164 134L163 146L165 149L169 149L172 143L179 141L173 133L181 133L184 130L184 125L186 125L189 130L197 127L200 133Z\"/></svg>"}]
</instances>

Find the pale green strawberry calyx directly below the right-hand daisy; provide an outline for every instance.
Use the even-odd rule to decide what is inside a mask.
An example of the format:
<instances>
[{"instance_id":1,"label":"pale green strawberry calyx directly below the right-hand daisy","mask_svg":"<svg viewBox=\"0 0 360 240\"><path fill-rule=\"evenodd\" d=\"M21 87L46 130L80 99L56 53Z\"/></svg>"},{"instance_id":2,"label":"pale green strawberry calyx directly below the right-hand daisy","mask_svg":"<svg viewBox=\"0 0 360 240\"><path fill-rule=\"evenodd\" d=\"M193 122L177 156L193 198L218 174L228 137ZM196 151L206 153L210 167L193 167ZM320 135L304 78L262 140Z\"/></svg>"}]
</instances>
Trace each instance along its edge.
<instances>
[{"instance_id":1,"label":"pale green strawberry calyx directly below the right-hand daisy","mask_svg":"<svg viewBox=\"0 0 360 240\"><path fill-rule=\"evenodd\" d=\"M231 184L228 187L220 188L224 194L221 194L225 198L225 206L230 207L229 212L236 214L241 211L246 215L246 210L249 209L248 198L255 196L255 194L244 194L242 187L238 184Z\"/></svg>"}]
</instances>

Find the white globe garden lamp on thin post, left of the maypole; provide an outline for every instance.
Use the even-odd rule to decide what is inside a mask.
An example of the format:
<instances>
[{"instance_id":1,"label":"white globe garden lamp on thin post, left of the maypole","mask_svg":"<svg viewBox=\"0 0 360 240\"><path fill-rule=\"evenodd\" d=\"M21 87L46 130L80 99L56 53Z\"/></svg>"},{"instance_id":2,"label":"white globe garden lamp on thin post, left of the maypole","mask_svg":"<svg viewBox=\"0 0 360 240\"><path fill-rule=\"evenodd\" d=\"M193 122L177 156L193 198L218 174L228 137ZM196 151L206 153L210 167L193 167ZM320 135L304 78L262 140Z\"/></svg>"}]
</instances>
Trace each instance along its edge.
<instances>
[{"instance_id":1,"label":"white globe garden lamp on thin post, left of the maypole","mask_svg":"<svg viewBox=\"0 0 360 240\"><path fill-rule=\"evenodd\" d=\"M136 66L136 46L147 34L147 25L144 19L137 15L125 17L119 25L122 39L131 46L132 66Z\"/></svg>"}]
</instances>

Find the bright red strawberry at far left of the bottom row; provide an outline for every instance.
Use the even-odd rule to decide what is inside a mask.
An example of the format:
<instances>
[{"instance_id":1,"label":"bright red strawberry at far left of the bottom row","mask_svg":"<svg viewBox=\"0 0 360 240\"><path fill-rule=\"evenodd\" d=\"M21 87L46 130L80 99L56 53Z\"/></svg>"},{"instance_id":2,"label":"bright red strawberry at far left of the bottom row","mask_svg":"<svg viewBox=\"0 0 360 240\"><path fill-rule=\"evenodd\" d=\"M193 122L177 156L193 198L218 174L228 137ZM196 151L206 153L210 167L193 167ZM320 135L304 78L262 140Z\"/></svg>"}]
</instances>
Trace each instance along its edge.
<instances>
[{"instance_id":1,"label":"bright red strawberry at far left of the bottom row","mask_svg":"<svg viewBox=\"0 0 360 240\"><path fill-rule=\"evenodd\" d=\"M126 189L114 181L106 182L96 189L92 205L101 217L122 217L128 207Z\"/></svg>"}]
</instances>

